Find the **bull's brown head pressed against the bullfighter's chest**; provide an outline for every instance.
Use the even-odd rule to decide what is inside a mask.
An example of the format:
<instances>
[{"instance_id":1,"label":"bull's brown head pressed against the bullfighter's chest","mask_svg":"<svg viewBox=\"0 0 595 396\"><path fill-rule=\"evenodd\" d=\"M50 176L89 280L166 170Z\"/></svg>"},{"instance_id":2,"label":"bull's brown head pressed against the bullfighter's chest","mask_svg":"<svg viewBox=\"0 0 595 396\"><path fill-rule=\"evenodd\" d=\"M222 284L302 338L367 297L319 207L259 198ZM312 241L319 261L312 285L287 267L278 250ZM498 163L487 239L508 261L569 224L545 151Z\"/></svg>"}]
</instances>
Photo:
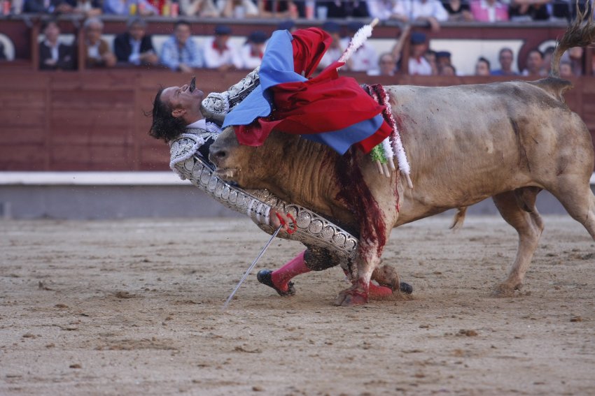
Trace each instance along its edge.
<instances>
[{"instance_id":1,"label":"bull's brown head pressed against the bullfighter's chest","mask_svg":"<svg viewBox=\"0 0 595 396\"><path fill-rule=\"evenodd\" d=\"M271 136L260 147L240 145L233 127L226 128L209 149L209 159L221 179L237 182L245 189L267 188L271 166L275 163L275 139Z\"/></svg>"}]
</instances>

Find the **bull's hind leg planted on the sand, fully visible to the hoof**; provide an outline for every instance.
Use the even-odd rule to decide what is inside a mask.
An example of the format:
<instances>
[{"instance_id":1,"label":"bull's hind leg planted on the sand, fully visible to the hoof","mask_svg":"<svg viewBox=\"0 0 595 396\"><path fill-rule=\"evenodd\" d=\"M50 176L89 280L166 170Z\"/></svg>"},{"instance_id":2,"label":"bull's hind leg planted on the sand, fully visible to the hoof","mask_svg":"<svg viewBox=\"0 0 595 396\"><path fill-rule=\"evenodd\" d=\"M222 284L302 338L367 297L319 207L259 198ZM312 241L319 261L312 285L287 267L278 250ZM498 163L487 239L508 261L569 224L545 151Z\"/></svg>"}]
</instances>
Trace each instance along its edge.
<instances>
[{"instance_id":1,"label":"bull's hind leg planted on the sand, fully visible to the hoof","mask_svg":"<svg viewBox=\"0 0 595 396\"><path fill-rule=\"evenodd\" d=\"M534 187L526 187L492 197L503 219L519 233L517 257L514 258L506 280L496 286L495 295L511 295L523 284L543 231L542 219L535 208L535 197L539 191L540 189Z\"/></svg>"}]
</instances>

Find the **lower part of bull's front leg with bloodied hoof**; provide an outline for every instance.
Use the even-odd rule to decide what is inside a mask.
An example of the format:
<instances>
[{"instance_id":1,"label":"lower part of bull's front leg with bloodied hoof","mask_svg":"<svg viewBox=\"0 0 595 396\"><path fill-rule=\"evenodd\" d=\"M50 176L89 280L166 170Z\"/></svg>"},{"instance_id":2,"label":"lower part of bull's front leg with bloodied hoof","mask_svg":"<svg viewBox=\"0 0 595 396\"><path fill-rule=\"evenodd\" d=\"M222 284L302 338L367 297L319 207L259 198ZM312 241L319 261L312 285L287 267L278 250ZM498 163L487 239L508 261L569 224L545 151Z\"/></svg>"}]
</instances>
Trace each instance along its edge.
<instances>
[{"instance_id":1,"label":"lower part of bull's front leg with bloodied hoof","mask_svg":"<svg viewBox=\"0 0 595 396\"><path fill-rule=\"evenodd\" d=\"M353 284L350 288L339 293L335 300L335 305L352 307L355 305L367 304L372 272L374 272L374 269L376 269L380 263L380 256L377 254L377 246L363 246L360 242L360 249L356 262L358 276L353 280Z\"/></svg>"}]
</instances>

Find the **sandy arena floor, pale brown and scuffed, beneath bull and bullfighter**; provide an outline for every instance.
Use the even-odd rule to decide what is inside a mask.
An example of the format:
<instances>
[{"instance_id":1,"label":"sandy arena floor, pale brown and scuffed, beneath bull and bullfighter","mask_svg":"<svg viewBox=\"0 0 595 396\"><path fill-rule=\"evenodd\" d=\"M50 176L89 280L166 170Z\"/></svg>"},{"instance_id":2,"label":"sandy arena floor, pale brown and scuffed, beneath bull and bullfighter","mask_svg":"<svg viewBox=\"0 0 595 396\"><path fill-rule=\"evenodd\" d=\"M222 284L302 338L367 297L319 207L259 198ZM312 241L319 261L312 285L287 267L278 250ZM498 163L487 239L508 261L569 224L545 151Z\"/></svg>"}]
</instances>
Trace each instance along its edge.
<instances>
[{"instance_id":1,"label":"sandy arena floor, pale brown and scuffed, beneath bull and bullfighter","mask_svg":"<svg viewBox=\"0 0 595 396\"><path fill-rule=\"evenodd\" d=\"M332 305L342 271L280 298L255 273L300 251L244 219L0 221L1 395L595 395L595 242L546 230L525 287L492 298L517 249L496 217L393 230L414 286Z\"/></svg>"}]
</instances>

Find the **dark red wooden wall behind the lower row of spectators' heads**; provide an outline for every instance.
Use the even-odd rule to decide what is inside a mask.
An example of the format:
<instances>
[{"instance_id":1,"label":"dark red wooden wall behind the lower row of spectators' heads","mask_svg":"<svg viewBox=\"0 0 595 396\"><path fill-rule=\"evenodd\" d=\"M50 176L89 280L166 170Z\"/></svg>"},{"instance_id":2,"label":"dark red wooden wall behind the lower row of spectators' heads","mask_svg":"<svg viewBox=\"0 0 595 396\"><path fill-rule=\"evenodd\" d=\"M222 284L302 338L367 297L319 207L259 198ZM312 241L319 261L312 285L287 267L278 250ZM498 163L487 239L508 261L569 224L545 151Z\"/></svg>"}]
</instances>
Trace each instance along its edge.
<instances>
[{"instance_id":1,"label":"dark red wooden wall behind the lower row of spectators' heads","mask_svg":"<svg viewBox=\"0 0 595 396\"><path fill-rule=\"evenodd\" d=\"M4 34L13 41L15 45L15 63L0 62L0 70L3 68L31 68L38 69L38 34L43 20L48 16L43 15L12 15L10 17L0 16L0 34ZM126 17L104 16L104 34L120 34L126 30ZM172 33L174 21L169 17L147 17L148 34L167 35ZM276 29L279 20L226 20L196 17L186 18L192 26L194 36L211 36L217 24L229 24L232 27L232 34L235 36L248 36L254 30L272 33ZM318 20L297 20L297 27L311 27L321 24ZM337 21L343 23L344 21ZM80 17L60 17L59 27L63 34L74 34L78 42L82 42L83 20ZM444 22L440 31L430 31L424 24L414 24L415 31L423 31L428 40L481 40L505 41L521 40L522 45L517 53L517 66L523 70L526 55L530 50L539 47L546 41L555 41L566 29L566 22L499 22L497 24L483 22ZM344 33L348 33L344 31ZM400 24L394 21L381 22L374 29L373 39L395 39L400 33ZM403 50L402 63L407 64L408 45ZM79 57L82 52L79 51ZM583 65L584 74L592 75L593 49L587 48ZM79 59L79 71L83 70L83 61ZM494 65L496 66L496 65Z\"/></svg>"}]
</instances>

